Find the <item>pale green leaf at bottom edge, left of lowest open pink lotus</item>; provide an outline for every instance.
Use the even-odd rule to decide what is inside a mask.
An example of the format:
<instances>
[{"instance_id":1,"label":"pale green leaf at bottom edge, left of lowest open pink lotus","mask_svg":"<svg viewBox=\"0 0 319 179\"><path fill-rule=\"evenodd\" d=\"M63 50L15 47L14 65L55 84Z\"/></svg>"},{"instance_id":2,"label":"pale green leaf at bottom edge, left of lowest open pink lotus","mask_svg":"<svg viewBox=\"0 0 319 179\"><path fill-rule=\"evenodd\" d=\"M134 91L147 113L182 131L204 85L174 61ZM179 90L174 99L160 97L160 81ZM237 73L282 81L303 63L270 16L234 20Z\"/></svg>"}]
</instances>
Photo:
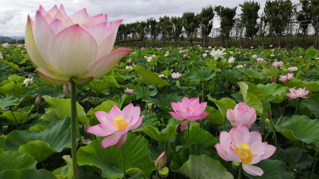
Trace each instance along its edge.
<instances>
[{"instance_id":1,"label":"pale green leaf at bottom edge, left of lowest open pink lotus","mask_svg":"<svg viewBox=\"0 0 319 179\"><path fill-rule=\"evenodd\" d=\"M218 160L211 159L207 155L190 155L189 160L176 172L189 179L234 179Z\"/></svg>"}]
</instances>

